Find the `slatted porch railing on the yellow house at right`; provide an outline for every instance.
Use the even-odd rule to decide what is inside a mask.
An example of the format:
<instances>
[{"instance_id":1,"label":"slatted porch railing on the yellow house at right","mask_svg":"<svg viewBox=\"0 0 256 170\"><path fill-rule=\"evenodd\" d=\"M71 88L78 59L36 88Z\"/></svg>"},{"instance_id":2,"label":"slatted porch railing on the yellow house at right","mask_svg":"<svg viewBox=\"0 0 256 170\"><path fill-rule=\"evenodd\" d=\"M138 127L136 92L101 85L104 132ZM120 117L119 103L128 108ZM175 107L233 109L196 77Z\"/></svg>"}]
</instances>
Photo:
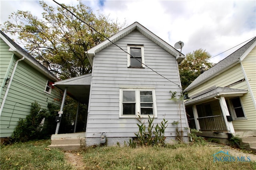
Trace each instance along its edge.
<instances>
[{"instance_id":1,"label":"slatted porch railing on the yellow house at right","mask_svg":"<svg viewBox=\"0 0 256 170\"><path fill-rule=\"evenodd\" d=\"M201 130L227 130L223 115L198 118Z\"/></svg>"}]
</instances>

